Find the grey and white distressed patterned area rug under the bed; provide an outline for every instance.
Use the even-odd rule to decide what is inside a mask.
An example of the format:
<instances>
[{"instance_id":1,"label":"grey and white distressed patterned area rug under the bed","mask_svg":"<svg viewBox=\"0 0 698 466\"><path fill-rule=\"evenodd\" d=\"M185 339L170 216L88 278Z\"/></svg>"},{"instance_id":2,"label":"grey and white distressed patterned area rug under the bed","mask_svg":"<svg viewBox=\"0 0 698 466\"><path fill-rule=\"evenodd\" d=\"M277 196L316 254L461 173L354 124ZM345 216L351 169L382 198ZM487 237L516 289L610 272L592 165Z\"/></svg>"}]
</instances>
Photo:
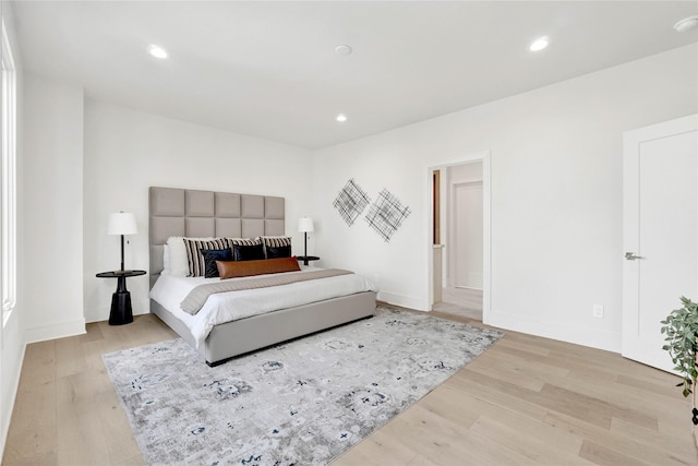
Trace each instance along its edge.
<instances>
[{"instance_id":1,"label":"grey and white distressed patterned area rug under the bed","mask_svg":"<svg viewBox=\"0 0 698 466\"><path fill-rule=\"evenodd\" d=\"M182 339L104 355L152 465L325 465L502 333L378 307L209 368Z\"/></svg>"}]
</instances>

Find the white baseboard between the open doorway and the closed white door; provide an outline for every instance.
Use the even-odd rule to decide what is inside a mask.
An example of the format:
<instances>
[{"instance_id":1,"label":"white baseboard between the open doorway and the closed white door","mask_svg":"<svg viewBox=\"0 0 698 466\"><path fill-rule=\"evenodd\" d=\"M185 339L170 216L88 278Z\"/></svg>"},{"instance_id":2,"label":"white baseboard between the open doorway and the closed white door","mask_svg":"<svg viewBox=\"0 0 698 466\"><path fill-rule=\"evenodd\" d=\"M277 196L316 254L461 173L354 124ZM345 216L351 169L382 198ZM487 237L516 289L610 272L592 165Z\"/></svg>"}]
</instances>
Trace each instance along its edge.
<instances>
[{"instance_id":1,"label":"white baseboard between the open doorway and the closed white door","mask_svg":"<svg viewBox=\"0 0 698 466\"><path fill-rule=\"evenodd\" d=\"M544 338L557 339L606 351L621 353L621 334L580 325L533 321L510 313L492 310L484 322L503 330L527 333Z\"/></svg>"}]
</instances>

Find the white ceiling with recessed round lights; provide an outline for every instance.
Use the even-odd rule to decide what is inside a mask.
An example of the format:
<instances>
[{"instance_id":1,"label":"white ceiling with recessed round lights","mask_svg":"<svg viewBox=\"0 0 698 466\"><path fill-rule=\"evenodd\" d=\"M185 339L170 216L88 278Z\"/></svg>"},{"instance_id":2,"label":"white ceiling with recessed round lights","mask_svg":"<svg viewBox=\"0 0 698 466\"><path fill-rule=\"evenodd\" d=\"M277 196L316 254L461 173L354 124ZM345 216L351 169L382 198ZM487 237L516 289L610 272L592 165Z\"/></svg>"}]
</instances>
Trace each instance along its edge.
<instances>
[{"instance_id":1,"label":"white ceiling with recessed round lights","mask_svg":"<svg viewBox=\"0 0 698 466\"><path fill-rule=\"evenodd\" d=\"M16 1L25 70L134 109L308 148L698 40L696 1ZM546 35L551 46L528 50ZM167 61L146 52L158 44ZM335 53L350 45L349 56ZM698 62L698 57L696 57ZM345 123L335 116L344 112Z\"/></svg>"}]
</instances>

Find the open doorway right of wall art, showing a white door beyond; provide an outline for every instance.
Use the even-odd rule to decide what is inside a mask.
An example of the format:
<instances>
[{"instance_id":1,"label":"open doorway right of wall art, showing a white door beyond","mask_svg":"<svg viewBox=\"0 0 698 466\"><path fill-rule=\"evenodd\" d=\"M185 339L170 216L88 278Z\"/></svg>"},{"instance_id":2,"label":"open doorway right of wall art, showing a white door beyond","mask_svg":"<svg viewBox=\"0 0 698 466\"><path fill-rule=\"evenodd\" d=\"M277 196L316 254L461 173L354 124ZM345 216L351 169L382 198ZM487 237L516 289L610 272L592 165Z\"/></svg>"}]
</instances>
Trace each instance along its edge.
<instances>
[{"instance_id":1,"label":"open doorway right of wall art, showing a white door beyond","mask_svg":"<svg viewBox=\"0 0 698 466\"><path fill-rule=\"evenodd\" d=\"M489 153L430 167L431 309L486 322Z\"/></svg>"}]
</instances>

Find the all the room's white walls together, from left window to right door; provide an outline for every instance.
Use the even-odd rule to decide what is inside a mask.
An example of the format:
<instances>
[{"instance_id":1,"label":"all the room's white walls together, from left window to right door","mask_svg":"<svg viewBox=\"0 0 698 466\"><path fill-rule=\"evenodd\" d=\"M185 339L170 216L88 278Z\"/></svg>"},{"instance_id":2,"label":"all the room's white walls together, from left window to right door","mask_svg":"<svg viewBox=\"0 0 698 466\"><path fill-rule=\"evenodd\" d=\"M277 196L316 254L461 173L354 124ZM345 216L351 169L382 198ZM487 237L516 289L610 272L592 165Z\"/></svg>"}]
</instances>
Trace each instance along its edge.
<instances>
[{"instance_id":1,"label":"all the room's white walls together, from left window to right door","mask_svg":"<svg viewBox=\"0 0 698 466\"><path fill-rule=\"evenodd\" d=\"M426 168L489 150L485 318L617 349L621 134L697 110L696 51L684 47L316 153L85 100L79 87L31 76L21 202L23 241L32 247L23 262L49 261L60 273L29 267L22 275L27 336L65 336L85 319L108 318L116 283L95 274L118 266L119 241L106 235L106 219L119 210L136 214L140 232L125 261L147 268L148 186L284 195L294 252L302 247L297 218L310 215L309 252L321 265L354 268L378 282L382 299L428 309ZM411 208L390 242L362 217L347 227L332 207L350 177L373 199L386 188ZM129 279L135 313L147 312L147 284ZM591 318L592 303L605 306L605 319Z\"/></svg>"}]
</instances>

